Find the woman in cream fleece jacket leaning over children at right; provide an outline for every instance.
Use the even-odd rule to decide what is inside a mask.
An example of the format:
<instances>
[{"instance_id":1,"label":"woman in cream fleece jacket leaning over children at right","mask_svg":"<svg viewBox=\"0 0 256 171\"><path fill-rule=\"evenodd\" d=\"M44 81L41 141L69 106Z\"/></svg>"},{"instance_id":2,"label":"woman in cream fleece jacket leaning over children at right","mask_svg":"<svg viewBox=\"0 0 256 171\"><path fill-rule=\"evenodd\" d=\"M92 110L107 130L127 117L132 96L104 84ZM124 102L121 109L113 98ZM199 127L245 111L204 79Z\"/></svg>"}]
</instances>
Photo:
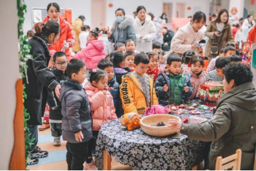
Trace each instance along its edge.
<instances>
[{"instance_id":1,"label":"woman in cream fleece jacket leaning over children at right","mask_svg":"<svg viewBox=\"0 0 256 171\"><path fill-rule=\"evenodd\" d=\"M197 46L203 39L204 33L201 28L206 22L206 15L203 12L196 12L193 15L192 22L180 28L172 39L171 51L177 53L180 57L186 51L194 51L195 55L202 52L202 48Z\"/></svg>"}]
</instances>

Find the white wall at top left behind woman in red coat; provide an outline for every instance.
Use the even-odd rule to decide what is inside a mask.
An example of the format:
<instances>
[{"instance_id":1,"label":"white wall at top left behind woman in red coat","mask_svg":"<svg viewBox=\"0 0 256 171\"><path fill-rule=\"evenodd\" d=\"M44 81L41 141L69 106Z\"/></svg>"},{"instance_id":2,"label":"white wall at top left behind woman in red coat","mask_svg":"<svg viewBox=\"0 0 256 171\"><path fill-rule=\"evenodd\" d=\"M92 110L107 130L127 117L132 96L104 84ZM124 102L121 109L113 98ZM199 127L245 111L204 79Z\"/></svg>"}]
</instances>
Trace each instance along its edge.
<instances>
[{"instance_id":1,"label":"white wall at top left behind woman in red coat","mask_svg":"<svg viewBox=\"0 0 256 171\"><path fill-rule=\"evenodd\" d=\"M25 0L28 12L25 15L24 30L32 28L32 8L47 8L49 3L57 3L60 8L72 9L72 21L79 15L84 15L86 21L84 24L91 24L91 1L92 0ZM97 9L96 9L97 10Z\"/></svg>"}]
</instances>

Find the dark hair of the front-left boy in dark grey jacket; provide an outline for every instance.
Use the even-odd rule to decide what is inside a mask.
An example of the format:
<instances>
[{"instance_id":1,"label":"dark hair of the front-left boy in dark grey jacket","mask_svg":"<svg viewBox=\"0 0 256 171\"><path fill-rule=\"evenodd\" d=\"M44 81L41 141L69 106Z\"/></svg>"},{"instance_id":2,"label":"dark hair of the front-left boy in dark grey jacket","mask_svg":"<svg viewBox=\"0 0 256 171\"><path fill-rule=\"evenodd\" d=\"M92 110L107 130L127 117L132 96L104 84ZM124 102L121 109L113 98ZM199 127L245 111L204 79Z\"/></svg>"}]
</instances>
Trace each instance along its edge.
<instances>
[{"instance_id":1,"label":"dark hair of the front-left boy in dark grey jacket","mask_svg":"<svg viewBox=\"0 0 256 171\"><path fill-rule=\"evenodd\" d=\"M68 75L68 78L72 78L72 74L76 73L78 74L80 69L85 66L83 60L80 59L72 59L68 63L68 66L66 67L66 73Z\"/></svg>"}]
</instances>

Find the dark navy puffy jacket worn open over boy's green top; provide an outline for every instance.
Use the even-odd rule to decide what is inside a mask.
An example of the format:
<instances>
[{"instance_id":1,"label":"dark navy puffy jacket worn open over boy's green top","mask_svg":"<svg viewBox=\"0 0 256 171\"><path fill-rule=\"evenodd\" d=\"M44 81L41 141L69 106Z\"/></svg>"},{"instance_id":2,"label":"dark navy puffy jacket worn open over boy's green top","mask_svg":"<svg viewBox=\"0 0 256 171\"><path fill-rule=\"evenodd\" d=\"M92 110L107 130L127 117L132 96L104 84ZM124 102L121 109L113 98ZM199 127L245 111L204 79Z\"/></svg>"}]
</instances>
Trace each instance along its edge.
<instances>
[{"instance_id":1,"label":"dark navy puffy jacket worn open over boy's green top","mask_svg":"<svg viewBox=\"0 0 256 171\"><path fill-rule=\"evenodd\" d=\"M188 100L188 98L190 96L192 96L193 93L193 86L190 82L190 77L191 75L184 75L181 76L181 78L184 78L184 83L179 85L182 87L182 96L181 97L175 97L174 99L180 99L182 98L183 102L186 102L186 100ZM179 82L179 81L178 81ZM168 85L169 90L167 92L164 92L164 85ZM190 91L188 93L184 92L184 87L190 87ZM168 75L166 75L166 73L159 73L159 76L157 78L157 80L155 81L155 91L157 93L157 97L159 98L159 104L166 106L166 105L170 105L171 101L173 101L173 99L171 99L171 95L172 95L172 91L173 89L175 89L177 87L172 87L170 85L170 78ZM174 91L173 92L175 95L177 95L177 92Z\"/></svg>"}]
</instances>

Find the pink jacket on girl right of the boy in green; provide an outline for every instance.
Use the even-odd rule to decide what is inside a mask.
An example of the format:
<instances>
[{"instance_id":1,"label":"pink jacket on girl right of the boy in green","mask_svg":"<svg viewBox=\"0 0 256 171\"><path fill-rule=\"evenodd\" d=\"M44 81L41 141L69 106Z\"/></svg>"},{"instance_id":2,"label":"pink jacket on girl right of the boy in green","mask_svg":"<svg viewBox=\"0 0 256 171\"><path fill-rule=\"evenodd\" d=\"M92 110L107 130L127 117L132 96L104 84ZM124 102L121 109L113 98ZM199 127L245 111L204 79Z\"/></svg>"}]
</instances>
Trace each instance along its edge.
<instances>
[{"instance_id":1,"label":"pink jacket on girl right of the boy in green","mask_svg":"<svg viewBox=\"0 0 256 171\"><path fill-rule=\"evenodd\" d=\"M204 85L204 83L206 82L207 75L206 75L206 73L204 73L204 71L202 71L201 75L197 76L192 72L191 69L184 71L184 74L191 75L190 82L193 85L193 94L192 94L192 96L190 96L190 98L188 98L188 100L193 100L195 98L195 96L197 95L199 86Z\"/></svg>"}]
</instances>

